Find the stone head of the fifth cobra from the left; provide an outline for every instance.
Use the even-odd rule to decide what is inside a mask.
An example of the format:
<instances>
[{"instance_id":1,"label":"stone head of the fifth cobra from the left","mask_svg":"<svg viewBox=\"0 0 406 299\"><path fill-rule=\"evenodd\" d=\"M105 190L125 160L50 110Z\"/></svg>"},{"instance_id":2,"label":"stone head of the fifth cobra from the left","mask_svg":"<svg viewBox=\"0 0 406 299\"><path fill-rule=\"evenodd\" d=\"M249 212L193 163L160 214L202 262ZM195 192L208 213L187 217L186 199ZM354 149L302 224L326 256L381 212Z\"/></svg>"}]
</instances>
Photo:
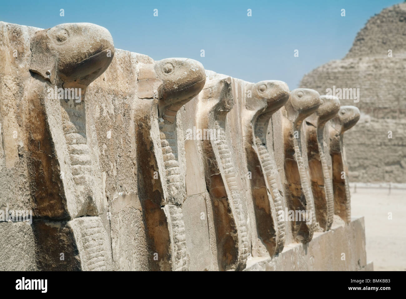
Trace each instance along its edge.
<instances>
[{"instance_id":1,"label":"stone head of the fifth cobra from the left","mask_svg":"<svg viewBox=\"0 0 406 299\"><path fill-rule=\"evenodd\" d=\"M296 88L290 92L285 107L287 117L292 122L304 120L320 106L320 94L308 88Z\"/></svg>"}]
</instances>

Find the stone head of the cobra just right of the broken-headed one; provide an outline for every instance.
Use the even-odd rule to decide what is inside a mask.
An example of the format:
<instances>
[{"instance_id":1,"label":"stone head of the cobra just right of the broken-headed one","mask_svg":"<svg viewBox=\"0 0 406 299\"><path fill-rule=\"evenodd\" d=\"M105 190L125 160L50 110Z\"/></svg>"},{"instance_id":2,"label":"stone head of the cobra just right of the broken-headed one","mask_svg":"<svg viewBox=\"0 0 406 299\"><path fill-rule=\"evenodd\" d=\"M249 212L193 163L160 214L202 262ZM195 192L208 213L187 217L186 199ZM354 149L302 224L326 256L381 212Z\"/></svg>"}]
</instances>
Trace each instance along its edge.
<instances>
[{"instance_id":1,"label":"stone head of the cobra just right of the broken-headed one","mask_svg":"<svg viewBox=\"0 0 406 299\"><path fill-rule=\"evenodd\" d=\"M246 97L246 109L259 113L273 113L289 99L289 87L283 81L266 80L247 86L251 98Z\"/></svg>"}]
</instances>

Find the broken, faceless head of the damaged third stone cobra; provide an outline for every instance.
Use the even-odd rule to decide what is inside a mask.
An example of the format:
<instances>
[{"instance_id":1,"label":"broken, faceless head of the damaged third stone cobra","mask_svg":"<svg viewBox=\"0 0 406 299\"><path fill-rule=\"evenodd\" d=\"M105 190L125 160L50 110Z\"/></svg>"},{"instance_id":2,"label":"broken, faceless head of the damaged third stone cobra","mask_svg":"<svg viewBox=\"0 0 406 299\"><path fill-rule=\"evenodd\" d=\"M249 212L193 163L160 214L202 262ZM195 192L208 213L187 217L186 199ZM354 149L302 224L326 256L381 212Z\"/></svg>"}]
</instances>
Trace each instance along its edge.
<instances>
[{"instance_id":1,"label":"broken, faceless head of the damaged third stone cobra","mask_svg":"<svg viewBox=\"0 0 406 299\"><path fill-rule=\"evenodd\" d=\"M234 107L231 77L206 82L201 91L204 106L215 114L227 114Z\"/></svg>"}]
</instances>

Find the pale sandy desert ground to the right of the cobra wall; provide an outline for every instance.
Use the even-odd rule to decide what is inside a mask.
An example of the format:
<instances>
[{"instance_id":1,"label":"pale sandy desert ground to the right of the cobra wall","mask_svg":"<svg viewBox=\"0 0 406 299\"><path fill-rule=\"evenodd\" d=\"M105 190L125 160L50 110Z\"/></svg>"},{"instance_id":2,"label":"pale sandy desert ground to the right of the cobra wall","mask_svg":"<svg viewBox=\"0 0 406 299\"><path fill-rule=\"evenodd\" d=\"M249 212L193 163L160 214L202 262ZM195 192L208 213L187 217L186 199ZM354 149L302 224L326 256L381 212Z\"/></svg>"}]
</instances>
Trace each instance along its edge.
<instances>
[{"instance_id":1,"label":"pale sandy desert ground to the right of the cobra wall","mask_svg":"<svg viewBox=\"0 0 406 299\"><path fill-rule=\"evenodd\" d=\"M392 213L392 219L388 213ZM352 217L365 217L367 261L374 271L406 271L406 189L351 187Z\"/></svg>"}]
</instances>

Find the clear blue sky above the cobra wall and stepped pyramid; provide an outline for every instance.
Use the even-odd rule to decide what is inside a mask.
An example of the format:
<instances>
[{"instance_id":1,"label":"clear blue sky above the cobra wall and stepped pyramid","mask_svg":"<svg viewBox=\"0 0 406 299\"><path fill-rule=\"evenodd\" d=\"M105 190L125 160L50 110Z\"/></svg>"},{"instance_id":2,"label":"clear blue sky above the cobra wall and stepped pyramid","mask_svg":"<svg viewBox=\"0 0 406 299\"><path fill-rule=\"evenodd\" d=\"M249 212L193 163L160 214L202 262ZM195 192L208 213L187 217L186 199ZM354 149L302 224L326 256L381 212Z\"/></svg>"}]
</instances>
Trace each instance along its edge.
<instances>
[{"instance_id":1,"label":"clear blue sky above the cobra wall and stepped pyramid","mask_svg":"<svg viewBox=\"0 0 406 299\"><path fill-rule=\"evenodd\" d=\"M207 70L251 82L282 80L294 89L304 74L343 58L369 17L399 2L22 0L2 1L0 21L40 28L95 23L110 31L116 48L155 60L188 57Z\"/></svg>"}]
</instances>

